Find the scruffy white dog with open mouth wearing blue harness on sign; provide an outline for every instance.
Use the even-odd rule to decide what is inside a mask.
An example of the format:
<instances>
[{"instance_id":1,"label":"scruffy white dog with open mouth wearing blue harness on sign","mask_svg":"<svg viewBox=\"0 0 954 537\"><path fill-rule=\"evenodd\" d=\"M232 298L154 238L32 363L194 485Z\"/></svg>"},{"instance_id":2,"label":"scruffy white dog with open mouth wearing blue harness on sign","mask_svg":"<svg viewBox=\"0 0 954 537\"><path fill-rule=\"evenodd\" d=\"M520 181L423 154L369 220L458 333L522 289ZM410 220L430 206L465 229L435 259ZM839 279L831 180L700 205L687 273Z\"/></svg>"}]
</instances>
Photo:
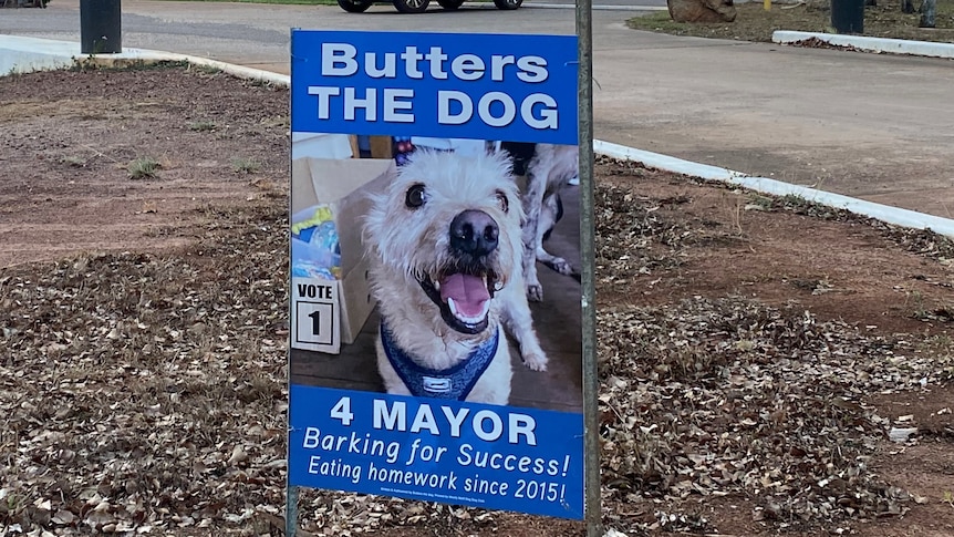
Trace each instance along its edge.
<instances>
[{"instance_id":1,"label":"scruffy white dog with open mouth wearing blue harness on sign","mask_svg":"<svg viewBox=\"0 0 954 537\"><path fill-rule=\"evenodd\" d=\"M522 271L520 196L504 153L419 151L365 219L388 393L507 404L506 329L547 368Z\"/></svg>"}]
</instances>

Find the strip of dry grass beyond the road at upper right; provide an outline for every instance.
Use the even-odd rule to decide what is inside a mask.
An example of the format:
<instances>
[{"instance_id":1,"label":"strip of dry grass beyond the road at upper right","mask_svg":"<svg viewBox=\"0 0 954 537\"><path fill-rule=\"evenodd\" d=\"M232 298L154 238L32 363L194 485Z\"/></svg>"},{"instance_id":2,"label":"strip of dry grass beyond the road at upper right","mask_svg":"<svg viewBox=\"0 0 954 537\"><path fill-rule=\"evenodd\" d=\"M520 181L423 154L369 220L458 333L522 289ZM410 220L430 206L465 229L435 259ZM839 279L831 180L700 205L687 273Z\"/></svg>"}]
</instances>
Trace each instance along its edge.
<instances>
[{"instance_id":1,"label":"strip of dry grass beyond the road at upper right","mask_svg":"<svg viewBox=\"0 0 954 537\"><path fill-rule=\"evenodd\" d=\"M626 21L635 30L739 41L771 41L776 30L828 32L831 27L830 0L772 3L766 11L761 2L736 4L734 22L694 24L674 22L668 12L657 11ZM900 0L878 0L864 8L864 35L954 43L954 0L937 0L936 28L917 28L920 13L901 12Z\"/></svg>"}]
</instances>

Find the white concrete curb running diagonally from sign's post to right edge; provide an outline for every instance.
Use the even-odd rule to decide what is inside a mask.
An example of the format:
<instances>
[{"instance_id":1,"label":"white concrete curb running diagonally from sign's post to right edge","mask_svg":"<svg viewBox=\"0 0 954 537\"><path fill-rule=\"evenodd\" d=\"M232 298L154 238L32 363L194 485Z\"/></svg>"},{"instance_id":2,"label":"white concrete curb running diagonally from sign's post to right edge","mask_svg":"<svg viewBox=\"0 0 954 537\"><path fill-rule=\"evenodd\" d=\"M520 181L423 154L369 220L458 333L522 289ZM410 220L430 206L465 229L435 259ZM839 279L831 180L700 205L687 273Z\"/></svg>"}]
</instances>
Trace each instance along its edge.
<instances>
[{"instance_id":1,"label":"white concrete curb running diagonally from sign's post to right edge","mask_svg":"<svg viewBox=\"0 0 954 537\"><path fill-rule=\"evenodd\" d=\"M930 229L940 235L954 237L954 220L940 216L925 215L914 210L891 207L889 205L875 204L857 199L841 194L832 194L817 190L806 186L791 185L766 177L753 177L740 172L707 166L689 161L650 153L647 151L634 149L624 145L612 144L599 140L593 141L593 151L598 154L624 161L634 161L650 168L664 169L692 177L708 180L718 180L732 185L738 185L763 194L772 196L798 196L808 202L850 210L851 213L868 216L888 224L910 227L915 229Z\"/></svg>"}]
</instances>

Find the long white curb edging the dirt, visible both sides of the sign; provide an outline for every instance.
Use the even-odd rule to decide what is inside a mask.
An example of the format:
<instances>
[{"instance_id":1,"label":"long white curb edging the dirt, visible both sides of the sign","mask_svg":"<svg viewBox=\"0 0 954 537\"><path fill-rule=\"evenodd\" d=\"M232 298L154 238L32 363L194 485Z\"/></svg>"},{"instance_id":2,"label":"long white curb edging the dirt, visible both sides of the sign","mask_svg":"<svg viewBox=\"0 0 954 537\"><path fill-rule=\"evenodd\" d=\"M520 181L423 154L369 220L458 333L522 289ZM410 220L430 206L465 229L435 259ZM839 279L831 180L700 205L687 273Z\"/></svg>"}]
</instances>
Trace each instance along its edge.
<instances>
[{"instance_id":1,"label":"long white curb edging the dirt, visible both sides of the sign","mask_svg":"<svg viewBox=\"0 0 954 537\"><path fill-rule=\"evenodd\" d=\"M90 56L80 53L79 43L0 35L0 75L10 72L62 69L73 65L77 60L84 61L85 59L90 59ZM188 61L196 65L206 65L219 69L226 73L243 79L260 80L284 86L288 86L291 83L290 76L284 74L235 65L231 63L209 60L207 58L174 54L145 49L123 49L121 54L102 54L96 56L95 60L105 63ZM720 168L717 166L708 166L705 164L683 161L681 158L635 149L624 145L603 142L601 140L593 141L593 151L600 155L605 155L612 158L639 162L650 168L663 169L708 180L729 183L774 196L795 195L809 202L847 209L889 224L915 229L931 229L934 233L954 237L954 220L948 218L864 202L862 199L856 199L840 194L831 194L823 190L817 190L815 188L791 185L766 177L751 177L740 172L733 172L732 169Z\"/></svg>"}]
</instances>

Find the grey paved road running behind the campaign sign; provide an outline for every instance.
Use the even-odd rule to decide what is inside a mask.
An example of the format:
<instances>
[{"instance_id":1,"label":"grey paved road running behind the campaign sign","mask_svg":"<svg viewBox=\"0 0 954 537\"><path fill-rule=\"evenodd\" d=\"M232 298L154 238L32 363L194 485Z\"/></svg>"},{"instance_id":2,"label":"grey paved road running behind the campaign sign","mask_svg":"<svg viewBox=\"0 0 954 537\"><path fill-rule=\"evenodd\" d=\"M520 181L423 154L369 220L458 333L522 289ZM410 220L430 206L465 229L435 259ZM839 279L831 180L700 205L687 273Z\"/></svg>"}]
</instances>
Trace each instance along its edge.
<instances>
[{"instance_id":1,"label":"grey paved road running behind the campaign sign","mask_svg":"<svg viewBox=\"0 0 954 537\"><path fill-rule=\"evenodd\" d=\"M572 9L535 1L545 0L515 12L402 16L388 6L350 14L131 0L123 2L123 43L288 72L291 27L573 32ZM598 137L954 217L954 63L626 29L637 14L593 12ZM79 41L79 0L2 10L2 33Z\"/></svg>"}]
</instances>

